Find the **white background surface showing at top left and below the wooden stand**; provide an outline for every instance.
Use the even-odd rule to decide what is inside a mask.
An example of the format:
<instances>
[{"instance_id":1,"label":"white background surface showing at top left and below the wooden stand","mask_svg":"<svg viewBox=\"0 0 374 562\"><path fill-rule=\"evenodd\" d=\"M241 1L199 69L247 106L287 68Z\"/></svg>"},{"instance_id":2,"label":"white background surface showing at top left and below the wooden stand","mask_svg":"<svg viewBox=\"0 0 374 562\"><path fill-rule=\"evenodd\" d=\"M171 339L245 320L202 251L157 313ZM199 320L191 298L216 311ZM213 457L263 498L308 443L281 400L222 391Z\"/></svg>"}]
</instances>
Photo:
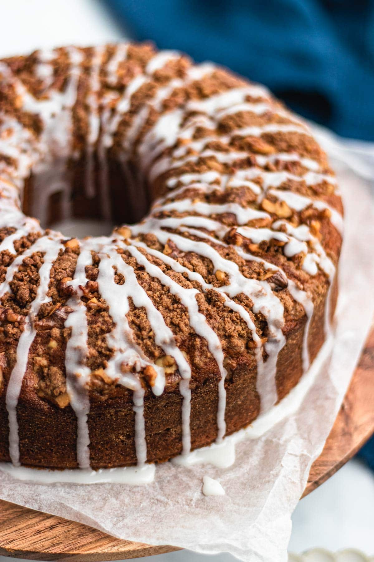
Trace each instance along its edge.
<instances>
[{"instance_id":1,"label":"white background surface showing at top left and below the wooden stand","mask_svg":"<svg viewBox=\"0 0 374 562\"><path fill-rule=\"evenodd\" d=\"M96 0L13 0L0 2L0 56L59 44L99 44L123 38L116 22ZM332 551L348 547L374 555L374 476L356 460L304 498L293 515L290 552L315 547ZM153 556L149 562L217 562L231 556L204 556L188 551ZM293 559L295 560L295 559ZM329 561L324 552L310 553L303 560ZM354 553L338 556L339 562L359 562ZM373 560L373 559L372 559ZM0 556L0 562L6 558ZM276 561L275 561L276 562Z\"/></svg>"}]
</instances>

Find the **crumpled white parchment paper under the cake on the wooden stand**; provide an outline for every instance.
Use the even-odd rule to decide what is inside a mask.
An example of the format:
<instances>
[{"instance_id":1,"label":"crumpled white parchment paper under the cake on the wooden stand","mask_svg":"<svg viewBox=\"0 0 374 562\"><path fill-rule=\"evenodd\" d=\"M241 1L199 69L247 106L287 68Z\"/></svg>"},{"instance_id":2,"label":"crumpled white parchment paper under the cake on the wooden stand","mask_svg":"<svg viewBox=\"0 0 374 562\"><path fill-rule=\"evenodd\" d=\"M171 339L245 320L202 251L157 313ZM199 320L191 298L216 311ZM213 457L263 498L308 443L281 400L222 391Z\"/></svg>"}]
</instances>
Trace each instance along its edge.
<instances>
[{"instance_id":1,"label":"crumpled white parchment paper under the cake on the wooden stand","mask_svg":"<svg viewBox=\"0 0 374 562\"><path fill-rule=\"evenodd\" d=\"M228 551L251 562L287 560L290 515L334 423L374 310L372 148L317 134L338 168L345 241L333 350L297 411L263 436L238 443L236 462L226 469L164 463L152 484L136 487L28 483L0 473L0 498L128 540ZM218 479L225 495L204 496L204 475Z\"/></svg>"}]
</instances>

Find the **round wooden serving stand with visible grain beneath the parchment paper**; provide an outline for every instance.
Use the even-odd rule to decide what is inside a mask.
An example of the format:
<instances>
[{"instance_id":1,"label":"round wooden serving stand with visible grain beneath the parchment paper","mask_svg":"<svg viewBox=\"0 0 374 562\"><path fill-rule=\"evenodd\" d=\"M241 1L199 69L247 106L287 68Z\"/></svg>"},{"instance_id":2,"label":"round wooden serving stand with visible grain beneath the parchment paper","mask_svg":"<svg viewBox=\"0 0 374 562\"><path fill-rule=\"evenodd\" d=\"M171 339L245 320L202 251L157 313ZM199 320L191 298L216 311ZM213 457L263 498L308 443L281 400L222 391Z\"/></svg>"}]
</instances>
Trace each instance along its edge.
<instances>
[{"instance_id":1,"label":"round wooden serving stand with visible grain beneath the parchment paper","mask_svg":"<svg viewBox=\"0 0 374 562\"><path fill-rule=\"evenodd\" d=\"M359 450L374 432L374 329L367 339L347 395L312 464L307 487L315 490ZM123 541L87 525L0 501L0 555L32 560L121 560L179 550Z\"/></svg>"}]
</instances>

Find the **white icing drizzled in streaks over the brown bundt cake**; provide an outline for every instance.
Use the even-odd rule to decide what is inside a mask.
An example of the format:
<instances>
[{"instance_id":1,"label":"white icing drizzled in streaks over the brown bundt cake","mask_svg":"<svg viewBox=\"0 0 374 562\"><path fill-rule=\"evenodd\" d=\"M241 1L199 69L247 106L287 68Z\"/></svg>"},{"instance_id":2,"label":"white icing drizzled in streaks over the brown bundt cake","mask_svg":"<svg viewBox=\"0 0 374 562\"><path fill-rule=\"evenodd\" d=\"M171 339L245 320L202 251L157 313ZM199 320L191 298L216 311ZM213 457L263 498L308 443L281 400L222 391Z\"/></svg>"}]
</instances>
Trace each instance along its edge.
<instances>
[{"instance_id":1,"label":"white icing drizzled in streaks over the brown bundt cake","mask_svg":"<svg viewBox=\"0 0 374 562\"><path fill-rule=\"evenodd\" d=\"M38 174L40 189L43 188L41 190L41 213L38 212L39 216L41 215L42 224L45 224L47 219L48 201L52 193L62 192L62 214L68 216L70 213L71 188L67 178L66 164L68 158L76 157L72 155L72 110L77 99L83 55L79 49L74 47L67 48L67 51L71 67L63 92L57 92L52 87L52 61L57 57L56 51L39 53L35 74L43 81L45 92L48 94L41 99L32 96L21 81L12 74L10 68L0 62L2 80L10 81L15 87L22 101L22 110L38 115L43 124L42 133L36 139L33 133L24 128L16 119L0 115L2 121L0 125L0 153L14 158L17 162L16 176L12 165L7 164L5 160L0 162L0 173L2 174L2 178L0 178L2 187L0 228L2 226L13 226L16 229L15 233L4 238L3 242L0 243L0 251L8 250L15 253L14 242L17 239L39 230L38 222L25 217L20 211L19 205L19 194L22 193L23 181L29 176L31 169ZM86 98L89 130L85 146L87 163L85 192L89 198L95 196L94 157L97 155L101 210L103 216L110 219L107 151L113 146L114 135L116 135L124 115L127 115L131 110L133 94L149 83L155 72L163 69L169 61L178 60L180 55L175 51L156 53L147 62L144 71L139 72L130 80L119 98L117 98L118 94L107 92L103 93L103 97L100 99L99 77L104 53L105 48L95 48L91 59L89 95ZM119 64L126 60L127 55L128 44L118 44L105 69L103 69L103 74L106 73L107 81L113 87L119 80ZM66 384L70 404L77 417L77 463L82 478L92 479L89 471L88 426L90 369L86 365L89 354L88 327L86 307L81 300L83 293L80 288L87 282L85 267L92 264L91 252L98 253L100 258L97 278L98 291L107 303L109 315L114 323L112 332L107 334L107 344L113 355L105 367L105 373L113 380L113 383L121 384L133 392L135 449L138 463L136 470L138 474L145 474L144 471L146 470L148 470L148 474L151 471L147 468L149 465L145 464L147 460L144 419L145 391L141 374L147 368L154 369L155 377L152 382L152 391L156 396L159 396L164 391L165 372L161 366L155 365L153 361L147 358L141 347L135 342L134 334L126 317L130 311L129 299L132 300L136 308L144 307L154 333L156 345L163 350L165 355L173 358L178 373L181 375L179 392L182 395L182 453L184 458L190 455L191 450L191 367L183 352L178 348L174 334L165 323L158 307L141 287L133 268L124 261L118 251L127 252L135 258L137 264L142 266L150 277L158 279L186 307L191 328L206 341L209 352L218 365L220 374L217 412L218 434L215 445L217 449L214 450L218 450L222 446L226 432L225 378L227 371L224 366L221 342L215 330L211 328L205 316L200 312L196 299L197 295L211 290L218 292L223 298L224 305L236 312L246 323L255 344L256 386L260 396L261 414L271 410L271 407L278 401L275 379L276 363L279 351L285 345L285 337L282 331L284 325L283 305L271 289L269 282L248 279L242 274L241 269L235 262L225 259L217 249L217 247L227 247L223 239L230 229L229 226L224 224L222 215L234 215L237 223L236 232L250 239L253 243L260 244L263 241L276 239L284 243L283 252L285 256L292 257L302 253L304 255L302 269L308 275L316 275L318 270L324 272L330 283L325 305L325 332L327 335L329 333L330 297L335 267L329 257L326 256L321 243L311 234L307 225L302 224L295 227L285 220L278 220L270 228L255 228L249 223L256 219L270 220L271 217L267 212L251 206L244 207L233 202L207 203L198 200L198 198L193 198L190 193L188 197L176 200L177 196L180 197L184 191L191 188L201 190L203 193L210 193L214 190L224 192L231 188L245 186L255 194L257 206L266 194L270 194L280 201L285 201L290 208L298 212L308 206L321 211L330 211L331 224L340 234L342 232L343 220L341 215L325 201L305 197L284 189L284 187L287 187L284 184L289 181L304 182L308 186L314 186L321 182L328 182L333 185L336 183L333 176L324 173L318 162L303 157L295 151L272 153L270 155L256 154L253 155L253 160L251 160L251 163L254 162L255 164L235 171L231 169L226 174L217 170L192 171L190 173L182 170L185 165L193 166L197 164L201 158L213 159L219 164L225 165L246 160L244 165L248 166L247 152L234 151L229 146L234 137L261 137L262 134L266 133L282 134L289 132L311 135L302 120L297 119L287 110L274 103L266 88L257 84L233 88L204 99L190 100L171 111L163 109L164 102L172 96L176 88L183 87L194 80L200 80L205 75L214 74L214 71L215 66L211 64L192 66L186 70L183 79L173 78L168 83L163 83L156 88L153 98L148 99L144 106L133 115L131 124L121 141L121 161L124 175L128 178L128 182L132 182L132 187L128 183L127 189L132 189L135 200L136 190L141 182L153 184L162 174L170 170L173 170L173 173L168 176L165 185L173 191L168 191L165 196L154 203L149 216L141 224L130 227L132 238L126 244L118 239L117 233L114 233L112 237L90 238L80 241L81 251L77 260L74 279L70 282L74 293L66 303L67 306L71 307L72 312L68 316L65 326L72 328L66 349ZM251 98L250 101L248 101L248 97ZM255 101L253 101L253 98L255 98ZM151 110L159 112L159 116L147 132L140 137L141 131L151 115ZM286 117L289 123L245 126L224 135L218 133L218 124L224 117L244 111L256 115L271 112ZM190 115L191 113L192 115ZM209 135L196 140L194 135L198 127L209 129ZM179 140L181 142L178 142ZM208 143L217 141L225 145L223 150L207 148ZM166 149L168 149L167 155L164 153ZM135 156L139 161L138 178L135 182L131 178L131 174L128 173L128 158L130 155ZM267 171L264 169L266 165L275 164L277 161L299 162L307 169L307 172L296 175L287 170ZM52 162L53 169L51 170ZM280 187L282 189L279 189ZM159 219L155 216L159 211L172 215L177 212L187 214L187 216L170 216ZM212 215L216 216L215 219L211 218ZM172 229L173 232L168 232L165 228ZM199 256L205 257L213 264L214 273L223 272L227 281L221 287L214 287L206 283L200 274L185 268L176 259L148 247L136 238L140 234L147 233L154 234L161 244L167 244L168 241L171 241L181 252L195 252ZM194 239L191 239L191 235ZM28 353L35 337L34 321L40 305L49 301L47 291L50 267L61 248L59 242L61 236L59 233L43 235L21 255L17 256L8 267L6 278L0 286L0 297L2 297L7 291L10 291L10 282L13 275L25 257L30 256L35 251L43 251L44 264L39 270L38 292L35 300L31 303L29 314L25 320L25 329L17 347L16 366L12 371L7 389L6 404L10 419L10 454L15 465L19 465L17 401L27 367ZM244 260L258 261L264 265L265 269L279 270L275 265L244 252L240 247L236 247L236 251ZM152 257L161 260L172 271L182 274L185 279L197 282L200 285L200 290L195 287L182 287L158 265L155 265ZM123 277L122 284L116 283L116 272ZM288 291L294 300L303 306L306 314L302 347L303 371L306 372L310 367L308 334L313 315L313 302L307 292L299 288L291 279L288 279ZM234 300L241 293L248 296L253 302L253 314L261 314L266 319L267 340L265 343L261 342L251 315ZM263 359L263 351L267 355L266 361ZM130 474L130 472L127 474ZM129 478L132 477L129 476ZM144 477L145 481L147 478L149 478L149 475ZM206 488L209 488L211 483L208 484L209 482L206 483Z\"/></svg>"}]
</instances>

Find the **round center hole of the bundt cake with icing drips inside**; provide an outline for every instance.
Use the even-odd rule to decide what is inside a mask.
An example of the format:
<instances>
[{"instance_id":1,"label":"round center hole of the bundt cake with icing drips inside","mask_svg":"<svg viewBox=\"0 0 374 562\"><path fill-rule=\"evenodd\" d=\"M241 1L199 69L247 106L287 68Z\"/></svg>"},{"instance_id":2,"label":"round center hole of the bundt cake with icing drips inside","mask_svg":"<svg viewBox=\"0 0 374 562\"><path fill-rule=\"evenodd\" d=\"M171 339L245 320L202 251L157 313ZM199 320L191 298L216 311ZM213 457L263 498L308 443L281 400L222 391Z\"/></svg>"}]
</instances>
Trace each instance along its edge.
<instances>
[{"instance_id":1,"label":"round center hole of the bundt cake with icing drips inside","mask_svg":"<svg viewBox=\"0 0 374 562\"><path fill-rule=\"evenodd\" d=\"M135 170L108 157L41 162L26 179L23 210L43 228L72 237L107 235L113 226L140 220L149 208L144 182Z\"/></svg>"}]
</instances>

